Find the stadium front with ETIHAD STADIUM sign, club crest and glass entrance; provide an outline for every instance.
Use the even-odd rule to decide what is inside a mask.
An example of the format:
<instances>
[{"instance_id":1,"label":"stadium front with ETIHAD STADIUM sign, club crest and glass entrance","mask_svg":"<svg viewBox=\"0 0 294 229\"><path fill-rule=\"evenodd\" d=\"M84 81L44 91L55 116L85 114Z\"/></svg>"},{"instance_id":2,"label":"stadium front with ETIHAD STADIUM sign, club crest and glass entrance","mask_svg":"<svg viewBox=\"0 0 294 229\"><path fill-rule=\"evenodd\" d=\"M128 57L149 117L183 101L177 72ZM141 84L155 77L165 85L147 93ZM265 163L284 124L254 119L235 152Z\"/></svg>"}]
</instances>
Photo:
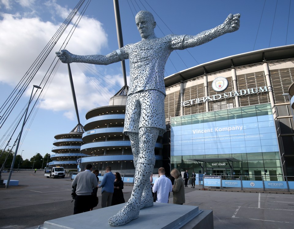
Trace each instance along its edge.
<instances>
[{"instance_id":1,"label":"stadium front with ETIHAD STADIUM sign, club crest and glass entrance","mask_svg":"<svg viewBox=\"0 0 294 229\"><path fill-rule=\"evenodd\" d=\"M171 169L294 176L294 116L286 96L293 81L294 45L229 56L165 78Z\"/></svg>"}]
</instances>

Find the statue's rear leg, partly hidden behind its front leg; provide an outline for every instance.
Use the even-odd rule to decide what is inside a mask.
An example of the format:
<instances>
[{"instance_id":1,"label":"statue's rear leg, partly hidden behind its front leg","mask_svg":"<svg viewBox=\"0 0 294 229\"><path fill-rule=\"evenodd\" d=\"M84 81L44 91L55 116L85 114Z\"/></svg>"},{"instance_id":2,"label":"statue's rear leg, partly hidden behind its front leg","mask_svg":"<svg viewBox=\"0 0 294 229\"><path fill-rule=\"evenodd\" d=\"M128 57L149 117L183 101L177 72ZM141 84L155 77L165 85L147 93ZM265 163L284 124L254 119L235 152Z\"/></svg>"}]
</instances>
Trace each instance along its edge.
<instances>
[{"instance_id":1,"label":"statue's rear leg, partly hidden behind its front leg","mask_svg":"<svg viewBox=\"0 0 294 229\"><path fill-rule=\"evenodd\" d=\"M140 154L139 133L129 132L128 136L131 142L131 148L134 156L134 167L137 168L137 160ZM150 174L151 175L151 174ZM140 209L153 206L153 196L150 182L147 182L141 196Z\"/></svg>"}]
</instances>

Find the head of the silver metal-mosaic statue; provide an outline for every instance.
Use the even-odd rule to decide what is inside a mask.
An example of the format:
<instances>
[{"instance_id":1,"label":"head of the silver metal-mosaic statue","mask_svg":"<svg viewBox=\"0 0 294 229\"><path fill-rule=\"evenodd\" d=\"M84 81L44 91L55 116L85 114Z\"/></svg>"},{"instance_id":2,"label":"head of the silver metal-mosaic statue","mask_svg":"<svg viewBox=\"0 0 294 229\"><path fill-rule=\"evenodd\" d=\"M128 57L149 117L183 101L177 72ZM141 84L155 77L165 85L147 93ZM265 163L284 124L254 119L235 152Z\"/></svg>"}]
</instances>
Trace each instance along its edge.
<instances>
[{"instance_id":1,"label":"head of the silver metal-mosaic statue","mask_svg":"<svg viewBox=\"0 0 294 229\"><path fill-rule=\"evenodd\" d=\"M137 13L135 21L142 38L148 38L150 35L154 34L156 22L154 21L152 13L141 10Z\"/></svg>"}]
</instances>

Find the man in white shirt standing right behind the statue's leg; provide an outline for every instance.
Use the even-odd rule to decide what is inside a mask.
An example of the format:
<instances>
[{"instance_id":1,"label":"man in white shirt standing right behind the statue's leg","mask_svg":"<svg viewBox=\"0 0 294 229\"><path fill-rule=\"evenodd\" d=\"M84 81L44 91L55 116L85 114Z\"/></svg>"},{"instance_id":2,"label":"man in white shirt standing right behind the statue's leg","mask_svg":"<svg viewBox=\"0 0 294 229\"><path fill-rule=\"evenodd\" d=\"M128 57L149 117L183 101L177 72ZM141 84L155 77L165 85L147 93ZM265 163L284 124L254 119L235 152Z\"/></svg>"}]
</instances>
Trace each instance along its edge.
<instances>
[{"instance_id":1,"label":"man in white shirt standing right behind the statue's leg","mask_svg":"<svg viewBox=\"0 0 294 229\"><path fill-rule=\"evenodd\" d=\"M163 167L158 169L159 178L154 181L153 193L157 193L156 202L168 203L168 194L172 191L171 180L165 176Z\"/></svg>"}]
</instances>

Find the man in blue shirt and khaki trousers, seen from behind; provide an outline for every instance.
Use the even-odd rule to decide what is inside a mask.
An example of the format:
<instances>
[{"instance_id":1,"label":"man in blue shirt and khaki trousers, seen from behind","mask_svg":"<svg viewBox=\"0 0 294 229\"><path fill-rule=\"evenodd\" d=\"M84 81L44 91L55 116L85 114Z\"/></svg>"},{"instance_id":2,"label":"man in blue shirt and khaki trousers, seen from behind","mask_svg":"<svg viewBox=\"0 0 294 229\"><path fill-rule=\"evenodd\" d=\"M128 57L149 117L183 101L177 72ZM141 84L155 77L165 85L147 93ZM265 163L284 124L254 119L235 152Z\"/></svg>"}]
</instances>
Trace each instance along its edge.
<instances>
[{"instance_id":1,"label":"man in blue shirt and khaki trousers, seen from behind","mask_svg":"<svg viewBox=\"0 0 294 229\"><path fill-rule=\"evenodd\" d=\"M113 184L115 180L115 175L111 172L111 167L107 166L105 169L105 174L103 176L103 180L101 181L100 185L98 185L98 188L102 187L101 190L101 207L109 207L111 206L111 200L113 195Z\"/></svg>"}]
</instances>

